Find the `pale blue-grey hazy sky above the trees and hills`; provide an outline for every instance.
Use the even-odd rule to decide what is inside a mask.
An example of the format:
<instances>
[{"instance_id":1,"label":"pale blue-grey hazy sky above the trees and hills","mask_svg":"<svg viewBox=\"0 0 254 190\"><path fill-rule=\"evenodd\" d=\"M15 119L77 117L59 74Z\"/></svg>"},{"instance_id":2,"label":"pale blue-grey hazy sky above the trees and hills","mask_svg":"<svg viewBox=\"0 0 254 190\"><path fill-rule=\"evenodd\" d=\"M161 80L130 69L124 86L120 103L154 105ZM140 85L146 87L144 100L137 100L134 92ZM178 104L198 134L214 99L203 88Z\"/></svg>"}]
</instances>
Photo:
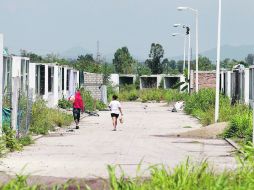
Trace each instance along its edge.
<instances>
[{"instance_id":1,"label":"pale blue-grey hazy sky above the trees and hills","mask_svg":"<svg viewBox=\"0 0 254 190\"><path fill-rule=\"evenodd\" d=\"M254 1L222 1L222 44L254 44ZM144 59L156 42L171 57L183 49L182 39L171 37L182 30L172 25L195 26L194 15L177 6L199 10L200 51L216 47L218 0L0 0L0 32L12 51L44 54L83 47L95 54L99 40L103 55L127 46Z\"/></svg>"}]
</instances>

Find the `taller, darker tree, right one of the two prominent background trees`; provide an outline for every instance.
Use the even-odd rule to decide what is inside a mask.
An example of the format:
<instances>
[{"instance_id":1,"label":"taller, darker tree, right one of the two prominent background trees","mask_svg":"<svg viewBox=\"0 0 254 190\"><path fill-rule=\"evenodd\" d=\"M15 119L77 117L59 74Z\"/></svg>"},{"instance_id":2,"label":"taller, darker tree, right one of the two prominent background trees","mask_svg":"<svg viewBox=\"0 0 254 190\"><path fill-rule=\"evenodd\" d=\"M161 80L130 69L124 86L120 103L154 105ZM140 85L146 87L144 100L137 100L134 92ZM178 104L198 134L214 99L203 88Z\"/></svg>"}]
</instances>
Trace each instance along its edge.
<instances>
[{"instance_id":1,"label":"taller, darker tree, right one of the two prominent background trees","mask_svg":"<svg viewBox=\"0 0 254 190\"><path fill-rule=\"evenodd\" d=\"M145 61L145 64L151 69L152 74L162 74L163 64L161 59L164 56L163 47L160 44L152 43L149 59Z\"/></svg>"}]
</instances>

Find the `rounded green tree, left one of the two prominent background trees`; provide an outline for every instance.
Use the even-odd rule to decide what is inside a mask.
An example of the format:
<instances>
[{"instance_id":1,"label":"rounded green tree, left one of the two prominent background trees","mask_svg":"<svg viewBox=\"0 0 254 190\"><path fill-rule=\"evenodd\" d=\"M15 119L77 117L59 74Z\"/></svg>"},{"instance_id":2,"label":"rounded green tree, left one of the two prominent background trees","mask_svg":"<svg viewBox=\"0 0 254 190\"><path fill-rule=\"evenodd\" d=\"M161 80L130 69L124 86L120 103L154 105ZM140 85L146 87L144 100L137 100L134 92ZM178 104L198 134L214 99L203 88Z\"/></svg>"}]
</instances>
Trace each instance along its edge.
<instances>
[{"instance_id":1,"label":"rounded green tree, left one of the two prominent background trees","mask_svg":"<svg viewBox=\"0 0 254 190\"><path fill-rule=\"evenodd\" d=\"M117 49L113 59L115 71L121 74L131 74L134 72L135 60L130 55L127 47Z\"/></svg>"}]
</instances>

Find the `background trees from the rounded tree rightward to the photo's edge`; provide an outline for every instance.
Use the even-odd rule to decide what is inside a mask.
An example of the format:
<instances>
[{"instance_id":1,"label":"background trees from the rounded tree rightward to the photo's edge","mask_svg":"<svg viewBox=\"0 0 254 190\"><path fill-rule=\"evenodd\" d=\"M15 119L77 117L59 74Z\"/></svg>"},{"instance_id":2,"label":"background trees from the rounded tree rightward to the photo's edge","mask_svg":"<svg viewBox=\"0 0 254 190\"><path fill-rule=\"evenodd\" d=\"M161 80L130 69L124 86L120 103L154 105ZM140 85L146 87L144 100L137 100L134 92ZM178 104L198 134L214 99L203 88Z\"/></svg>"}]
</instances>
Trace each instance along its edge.
<instances>
[{"instance_id":1,"label":"background trees from the rounded tree rightward to the photo's edge","mask_svg":"<svg viewBox=\"0 0 254 190\"><path fill-rule=\"evenodd\" d=\"M152 43L149 58L144 63L138 63L133 59L127 47L116 51L113 59L113 65L117 73L123 74L178 74L183 73L183 60L175 61L164 58L164 49L162 45ZM191 61L191 69L196 69L196 60ZM186 61L187 68L187 61ZM254 54L249 54L244 61L235 59L224 59L221 61L221 68L232 69L235 65L242 64L245 67L254 64ZM199 56L199 70L215 70L216 65L205 56Z\"/></svg>"}]
</instances>

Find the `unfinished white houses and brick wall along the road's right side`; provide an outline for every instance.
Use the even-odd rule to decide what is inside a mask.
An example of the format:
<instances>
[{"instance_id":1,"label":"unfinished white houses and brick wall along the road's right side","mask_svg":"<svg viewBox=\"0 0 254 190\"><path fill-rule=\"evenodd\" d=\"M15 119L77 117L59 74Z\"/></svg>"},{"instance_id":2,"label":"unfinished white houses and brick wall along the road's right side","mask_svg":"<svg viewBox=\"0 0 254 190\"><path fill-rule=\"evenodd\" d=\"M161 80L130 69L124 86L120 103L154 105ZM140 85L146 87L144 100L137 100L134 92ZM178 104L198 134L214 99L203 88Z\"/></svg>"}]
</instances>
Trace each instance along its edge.
<instances>
[{"instance_id":1,"label":"unfinished white houses and brick wall along the road's right side","mask_svg":"<svg viewBox=\"0 0 254 190\"><path fill-rule=\"evenodd\" d=\"M195 71L191 71L191 89L195 89ZM199 89L216 88L216 71L199 72ZM254 66L236 65L232 70L220 72L220 92L232 103L239 102L254 107Z\"/></svg>"}]
</instances>

